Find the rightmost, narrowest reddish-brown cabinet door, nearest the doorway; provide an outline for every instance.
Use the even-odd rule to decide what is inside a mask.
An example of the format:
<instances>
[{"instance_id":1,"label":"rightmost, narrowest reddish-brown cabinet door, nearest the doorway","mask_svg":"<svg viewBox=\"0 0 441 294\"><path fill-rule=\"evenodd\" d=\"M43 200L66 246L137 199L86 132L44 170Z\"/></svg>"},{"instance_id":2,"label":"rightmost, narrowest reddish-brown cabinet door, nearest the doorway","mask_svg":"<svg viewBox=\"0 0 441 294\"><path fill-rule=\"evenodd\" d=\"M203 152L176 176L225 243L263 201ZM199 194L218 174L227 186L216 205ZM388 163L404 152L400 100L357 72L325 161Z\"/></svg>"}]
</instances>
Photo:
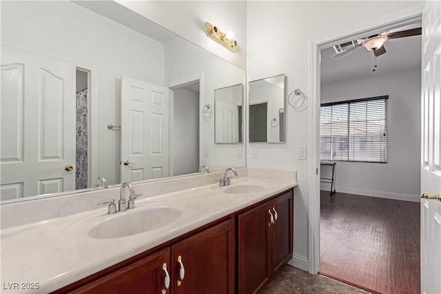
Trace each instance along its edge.
<instances>
[{"instance_id":1,"label":"rightmost, narrowest reddish-brown cabinet door, nearest the doorway","mask_svg":"<svg viewBox=\"0 0 441 294\"><path fill-rule=\"evenodd\" d=\"M289 191L270 203L277 220L271 224L271 275L292 258L293 192Z\"/></svg>"}]
</instances>

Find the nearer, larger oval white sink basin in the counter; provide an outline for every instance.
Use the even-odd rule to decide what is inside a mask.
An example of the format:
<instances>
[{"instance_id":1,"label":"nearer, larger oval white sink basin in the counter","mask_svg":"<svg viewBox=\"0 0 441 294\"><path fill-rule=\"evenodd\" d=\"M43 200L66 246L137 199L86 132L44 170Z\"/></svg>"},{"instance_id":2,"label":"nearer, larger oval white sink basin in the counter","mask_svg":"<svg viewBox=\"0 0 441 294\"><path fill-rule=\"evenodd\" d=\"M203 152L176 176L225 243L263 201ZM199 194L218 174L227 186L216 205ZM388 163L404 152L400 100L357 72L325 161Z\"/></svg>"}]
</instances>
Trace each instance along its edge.
<instances>
[{"instance_id":1,"label":"nearer, larger oval white sink basin in the counter","mask_svg":"<svg viewBox=\"0 0 441 294\"><path fill-rule=\"evenodd\" d=\"M119 213L120 216L105 220L92 228L89 236L96 239L111 239L145 233L164 227L182 215L182 211L170 207Z\"/></svg>"}]
</instances>

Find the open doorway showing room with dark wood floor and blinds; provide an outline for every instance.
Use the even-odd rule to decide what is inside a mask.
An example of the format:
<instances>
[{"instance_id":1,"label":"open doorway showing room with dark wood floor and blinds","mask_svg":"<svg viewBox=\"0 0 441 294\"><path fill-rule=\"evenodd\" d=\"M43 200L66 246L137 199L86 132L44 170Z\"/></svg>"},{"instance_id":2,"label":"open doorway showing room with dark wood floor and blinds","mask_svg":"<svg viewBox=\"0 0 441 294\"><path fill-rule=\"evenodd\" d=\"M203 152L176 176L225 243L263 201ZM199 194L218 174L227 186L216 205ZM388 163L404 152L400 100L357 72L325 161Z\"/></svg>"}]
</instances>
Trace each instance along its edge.
<instances>
[{"instance_id":1,"label":"open doorway showing room with dark wood floor and blinds","mask_svg":"<svg viewBox=\"0 0 441 294\"><path fill-rule=\"evenodd\" d=\"M321 187L320 273L374 293L420 288L420 28L387 30L403 37L379 56L358 39L320 52L320 160L338 177Z\"/></svg>"}]
</instances>

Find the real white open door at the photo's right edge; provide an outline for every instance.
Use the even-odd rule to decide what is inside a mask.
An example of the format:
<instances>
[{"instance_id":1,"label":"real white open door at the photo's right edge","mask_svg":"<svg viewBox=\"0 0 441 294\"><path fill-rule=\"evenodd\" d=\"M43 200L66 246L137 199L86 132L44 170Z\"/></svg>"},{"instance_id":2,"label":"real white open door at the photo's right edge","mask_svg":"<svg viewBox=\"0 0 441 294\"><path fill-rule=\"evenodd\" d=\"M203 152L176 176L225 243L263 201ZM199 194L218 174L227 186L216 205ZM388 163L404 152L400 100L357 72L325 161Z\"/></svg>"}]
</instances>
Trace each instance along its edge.
<instances>
[{"instance_id":1,"label":"real white open door at the photo's right edge","mask_svg":"<svg viewBox=\"0 0 441 294\"><path fill-rule=\"evenodd\" d=\"M441 193L441 1L427 1L422 14L421 192ZM421 292L441 293L441 217L421 203ZM432 216L433 215L433 216Z\"/></svg>"}]
</instances>

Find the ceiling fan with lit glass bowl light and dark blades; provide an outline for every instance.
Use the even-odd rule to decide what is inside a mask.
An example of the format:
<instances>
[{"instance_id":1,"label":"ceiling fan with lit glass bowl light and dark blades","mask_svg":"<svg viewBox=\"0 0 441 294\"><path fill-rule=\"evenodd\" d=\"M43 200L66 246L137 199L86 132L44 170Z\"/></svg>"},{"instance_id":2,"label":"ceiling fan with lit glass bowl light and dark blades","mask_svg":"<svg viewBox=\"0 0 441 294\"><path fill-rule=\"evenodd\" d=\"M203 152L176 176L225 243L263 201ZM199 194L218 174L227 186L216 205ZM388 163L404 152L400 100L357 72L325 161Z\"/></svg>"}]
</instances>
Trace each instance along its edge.
<instances>
[{"instance_id":1,"label":"ceiling fan with lit glass bowl light and dark blades","mask_svg":"<svg viewBox=\"0 0 441 294\"><path fill-rule=\"evenodd\" d=\"M345 54L348 54L349 52L352 52L353 50L356 50L360 47L364 47L369 51L372 51L374 56L380 56L384 53L386 53L386 49L384 49L384 42L390 39L398 39L398 38L404 38L406 36L417 36L421 34L421 28L413 28L411 30L402 30L400 32L390 32L382 33L382 34L375 34L373 36L368 36L364 39L359 39L355 41L348 42L351 44L351 47L347 50L342 51L342 45L336 45L340 47L340 53L335 55L334 57L340 57ZM348 44L346 43L346 44ZM334 50L338 52L338 48L334 46Z\"/></svg>"}]
</instances>

